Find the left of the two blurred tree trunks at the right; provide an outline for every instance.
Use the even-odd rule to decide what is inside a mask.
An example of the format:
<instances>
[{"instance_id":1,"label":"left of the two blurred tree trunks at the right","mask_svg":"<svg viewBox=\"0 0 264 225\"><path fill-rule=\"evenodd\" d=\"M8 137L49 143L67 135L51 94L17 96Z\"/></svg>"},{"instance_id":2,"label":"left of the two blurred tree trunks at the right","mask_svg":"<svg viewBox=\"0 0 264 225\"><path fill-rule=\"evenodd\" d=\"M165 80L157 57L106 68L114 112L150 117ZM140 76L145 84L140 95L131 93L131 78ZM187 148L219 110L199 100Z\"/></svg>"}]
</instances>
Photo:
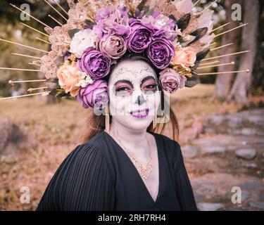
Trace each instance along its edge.
<instances>
[{"instance_id":1,"label":"left of the two blurred tree trunks at the right","mask_svg":"<svg viewBox=\"0 0 264 225\"><path fill-rule=\"evenodd\" d=\"M227 20L225 23L230 23L230 25L227 25L228 28L225 28L225 30L230 30L233 27L237 27L238 23L237 21L233 21L231 18L232 15L232 4L240 3L241 0L226 0L225 1L225 11L226 11L226 17ZM230 44L234 43L231 46L227 46L226 48L221 49L218 51L218 55L225 55L229 53L234 53L237 50L237 42L239 40L239 29L234 30L232 32L229 32L227 34L223 34L222 36L222 44ZM220 58L220 63L230 63L234 59L234 56L227 56L224 58ZM234 65L227 65L227 66L221 66L218 68L218 72L225 72L225 71L231 71L234 70ZM232 74L225 74L225 75L218 75L215 81L215 96L217 98L220 98L222 101L225 101L227 98L231 85L232 85Z\"/></svg>"}]
</instances>

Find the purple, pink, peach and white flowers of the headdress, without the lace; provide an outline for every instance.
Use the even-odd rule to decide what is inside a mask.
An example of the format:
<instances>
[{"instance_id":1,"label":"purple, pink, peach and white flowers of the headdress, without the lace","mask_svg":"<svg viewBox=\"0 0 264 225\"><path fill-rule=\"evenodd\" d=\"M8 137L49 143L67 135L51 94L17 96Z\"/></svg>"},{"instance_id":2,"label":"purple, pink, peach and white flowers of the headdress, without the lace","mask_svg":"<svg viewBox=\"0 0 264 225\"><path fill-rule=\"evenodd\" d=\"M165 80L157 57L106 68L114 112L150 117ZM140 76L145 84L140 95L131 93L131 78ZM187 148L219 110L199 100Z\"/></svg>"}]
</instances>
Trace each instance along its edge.
<instances>
[{"instance_id":1,"label":"purple, pink, peach and white flowers of the headdress, without the lace","mask_svg":"<svg viewBox=\"0 0 264 225\"><path fill-rule=\"evenodd\" d=\"M186 8L178 5L180 15ZM82 4L75 8L85 10ZM146 1L141 1L135 8L125 4L101 8L94 18L87 17L79 23L80 29L68 30L71 40L64 53L65 63L56 72L58 84L65 94L77 96L84 108L104 107L108 103L108 94L103 77L128 51L144 53L153 66L161 70L159 82L163 90L172 94L185 86L187 77L196 75L191 71L196 62L194 43L210 32L208 27L203 27L186 37L183 32L190 18L189 12L180 21L176 20L161 10L146 8ZM210 25L207 14L206 18Z\"/></svg>"}]
</instances>

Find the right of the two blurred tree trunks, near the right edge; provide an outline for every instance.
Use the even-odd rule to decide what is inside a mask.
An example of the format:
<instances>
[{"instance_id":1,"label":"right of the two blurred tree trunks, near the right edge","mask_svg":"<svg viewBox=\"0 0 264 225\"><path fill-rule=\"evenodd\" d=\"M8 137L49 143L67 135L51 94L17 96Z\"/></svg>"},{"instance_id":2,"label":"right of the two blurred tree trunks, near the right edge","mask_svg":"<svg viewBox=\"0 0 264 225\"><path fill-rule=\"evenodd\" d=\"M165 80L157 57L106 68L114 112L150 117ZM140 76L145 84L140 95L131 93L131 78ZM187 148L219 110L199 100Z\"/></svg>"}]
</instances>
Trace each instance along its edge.
<instances>
[{"instance_id":1,"label":"right of the two blurred tree trunks, near the right edge","mask_svg":"<svg viewBox=\"0 0 264 225\"><path fill-rule=\"evenodd\" d=\"M249 23L249 25L243 30L241 49L250 50L250 52L241 56L239 70L249 69L250 72L243 72L237 75L228 96L228 100L234 97L238 103L246 103L251 86L251 75L257 50L258 18L258 0L244 0L244 23Z\"/></svg>"}]
</instances>

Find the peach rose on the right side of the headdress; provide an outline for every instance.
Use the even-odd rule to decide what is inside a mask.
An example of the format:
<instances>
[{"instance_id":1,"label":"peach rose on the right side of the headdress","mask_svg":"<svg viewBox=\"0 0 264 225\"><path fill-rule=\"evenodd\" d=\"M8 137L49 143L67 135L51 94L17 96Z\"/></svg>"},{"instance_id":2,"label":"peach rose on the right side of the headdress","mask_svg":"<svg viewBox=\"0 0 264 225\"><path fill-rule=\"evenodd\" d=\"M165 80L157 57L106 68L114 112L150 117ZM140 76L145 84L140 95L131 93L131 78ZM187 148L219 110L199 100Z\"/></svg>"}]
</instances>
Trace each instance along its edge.
<instances>
[{"instance_id":1,"label":"peach rose on the right side of the headdress","mask_svg":"<svg viewBox=\"0 0 264 225\"><path fill-rule=\"evenodd\" d=\"M172 60L170 63L172 65L180 64L184 68L189 68L190 66L193 66L196 61L196 53L194 51L191 51L191 48L177 48L175 49L174 56L172 57Z\"/></svg>"}]
</instances>

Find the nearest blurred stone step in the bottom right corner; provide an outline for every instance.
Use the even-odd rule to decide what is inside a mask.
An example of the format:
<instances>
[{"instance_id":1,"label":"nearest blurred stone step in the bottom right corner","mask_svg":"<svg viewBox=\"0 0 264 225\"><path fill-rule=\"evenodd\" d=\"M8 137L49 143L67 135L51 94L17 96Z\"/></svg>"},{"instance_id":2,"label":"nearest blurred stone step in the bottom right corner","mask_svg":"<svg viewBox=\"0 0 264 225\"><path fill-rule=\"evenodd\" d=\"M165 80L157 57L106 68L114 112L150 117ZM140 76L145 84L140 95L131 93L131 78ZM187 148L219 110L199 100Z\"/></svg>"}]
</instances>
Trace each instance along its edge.
<instances>
[{"instance_id":1,"label":"nearest blurred stone step in the bottom right corner","mask_svg":"<svg viewBox=\"0 0 264 225\"><path fill-rule=\"evenodd\" d=\"M190 181L201 211L264 210L264 185L259 177L216 172L191 178ZM235 193L240 203L232 201Z\"/></svg>"}]
</instances>

